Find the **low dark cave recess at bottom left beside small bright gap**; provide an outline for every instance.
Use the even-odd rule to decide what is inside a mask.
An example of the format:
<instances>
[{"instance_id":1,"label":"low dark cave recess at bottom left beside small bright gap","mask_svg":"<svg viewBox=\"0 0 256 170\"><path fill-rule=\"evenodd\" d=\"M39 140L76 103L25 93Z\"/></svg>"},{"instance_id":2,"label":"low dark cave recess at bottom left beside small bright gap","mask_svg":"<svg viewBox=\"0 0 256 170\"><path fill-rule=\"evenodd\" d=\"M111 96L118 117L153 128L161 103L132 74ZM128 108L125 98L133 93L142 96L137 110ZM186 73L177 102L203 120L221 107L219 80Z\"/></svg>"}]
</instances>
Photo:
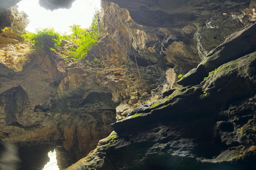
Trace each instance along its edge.
<instances>
[{"instance_id":1,"label":"low dark cave recess at bottom left beside small bright gap","mask_svg":"<svg viewBox=\"0 0 256 170\"><path fill-rule=\"evenodd\" d=\"M54 143L32 145L21 142L1 142L0 146L0 167L1 169L10 170L41 170L50 161L50 158L52 159L48 155L54 153L56 147ZM54 163L57 166L57 162L54 162L54 160L51 162L52 166Z\"/></svg>"}]
</instances>

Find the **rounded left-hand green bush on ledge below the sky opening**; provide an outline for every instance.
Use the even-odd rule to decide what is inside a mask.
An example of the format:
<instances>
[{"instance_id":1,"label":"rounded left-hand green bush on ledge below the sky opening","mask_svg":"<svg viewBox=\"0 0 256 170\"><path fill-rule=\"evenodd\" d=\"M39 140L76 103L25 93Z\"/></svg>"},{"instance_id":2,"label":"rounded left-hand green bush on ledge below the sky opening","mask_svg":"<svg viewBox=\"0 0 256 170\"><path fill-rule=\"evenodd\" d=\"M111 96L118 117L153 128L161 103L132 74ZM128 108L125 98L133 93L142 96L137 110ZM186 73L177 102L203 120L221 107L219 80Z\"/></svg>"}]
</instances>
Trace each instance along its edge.
<instances>
[{"instance_id":1,"label":"rounded left-hand green bush on ledge below the sky opening","mask_svg":"<svg viewBox=\"0 0 256 170\"><path fill-rule=\"evenodd\" d=\"M32 41L33 47L36 50L45 50L46 52L56 51L60 45L62 36L55 32L53 28L37 29L36 33L26 33L21 37L25 41Z\"/></svg>"}]
</instances>

